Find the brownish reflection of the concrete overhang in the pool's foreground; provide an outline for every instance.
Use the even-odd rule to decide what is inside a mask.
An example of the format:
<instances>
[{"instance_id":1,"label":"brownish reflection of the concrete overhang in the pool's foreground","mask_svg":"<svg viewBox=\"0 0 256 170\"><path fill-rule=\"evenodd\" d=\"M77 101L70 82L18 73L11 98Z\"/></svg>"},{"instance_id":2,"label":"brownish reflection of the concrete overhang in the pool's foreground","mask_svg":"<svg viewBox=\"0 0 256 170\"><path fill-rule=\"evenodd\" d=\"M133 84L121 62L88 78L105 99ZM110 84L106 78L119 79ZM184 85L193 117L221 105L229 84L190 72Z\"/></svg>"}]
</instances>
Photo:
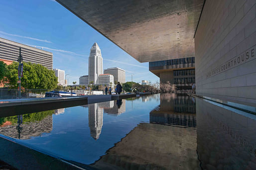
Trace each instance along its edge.
<instances>
[{"instance_id":1,"label":"brownish reflection of the concrete overhang in the pool's foreground","mask_svg":"<svg viewBox=\"0 0 256 170\"><path fill-rule=\"evenodd\" d=\"M107 170L195 170L196 130L141 123L107 151L95 168ZM108 164L108 166L106 166ZM111 165L111 166L110 166Z\"/></svg>"}]
</instances>

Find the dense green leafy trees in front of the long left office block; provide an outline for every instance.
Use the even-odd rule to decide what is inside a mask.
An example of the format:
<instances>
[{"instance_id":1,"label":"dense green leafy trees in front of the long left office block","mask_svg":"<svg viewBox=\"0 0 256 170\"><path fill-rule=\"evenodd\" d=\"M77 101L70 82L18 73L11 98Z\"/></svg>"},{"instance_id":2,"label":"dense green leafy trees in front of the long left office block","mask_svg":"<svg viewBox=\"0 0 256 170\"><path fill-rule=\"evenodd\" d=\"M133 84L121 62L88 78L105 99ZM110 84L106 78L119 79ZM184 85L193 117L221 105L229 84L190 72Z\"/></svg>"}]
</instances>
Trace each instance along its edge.
<instances>
[{"instance_id":1,"label":"dense green leafy trees in front of the long left office block","mask_svg":"<svg viewBox=\"0 0 256 170\"><path fill-rule=\"evenodd\" d=\"M13 62L7 66L6 78L10 88L17 88L18 63ZM58 79L53 70L48 70L42 65L23 63L23 77L21 86L25 89L54 89L58 85Z\"/></svg>"}]
</instances>

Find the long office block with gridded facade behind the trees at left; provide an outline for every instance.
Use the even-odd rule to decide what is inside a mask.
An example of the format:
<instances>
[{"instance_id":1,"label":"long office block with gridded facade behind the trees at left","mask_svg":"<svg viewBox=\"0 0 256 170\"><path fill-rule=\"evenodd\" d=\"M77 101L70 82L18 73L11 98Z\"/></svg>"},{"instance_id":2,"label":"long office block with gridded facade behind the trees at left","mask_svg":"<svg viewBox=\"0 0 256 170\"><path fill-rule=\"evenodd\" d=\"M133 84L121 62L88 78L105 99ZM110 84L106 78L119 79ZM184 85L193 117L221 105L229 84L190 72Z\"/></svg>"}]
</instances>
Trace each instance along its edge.
<instances>
[{"instance_id":1,"label":"long office block with gridded facade behind the trees at left","mask_svg":"<svg viewBox=\"0 0 256 170\"><path fill-rule=\"evenodd\" d=\"M47 69L53 68L52 53L40 50L28 45L20 44L4 38L0 38L0 59L17 61L19 56L19 48L21 48L21 55L23 62L30 62L40 64Z\"/></svg>"}]
</instances>

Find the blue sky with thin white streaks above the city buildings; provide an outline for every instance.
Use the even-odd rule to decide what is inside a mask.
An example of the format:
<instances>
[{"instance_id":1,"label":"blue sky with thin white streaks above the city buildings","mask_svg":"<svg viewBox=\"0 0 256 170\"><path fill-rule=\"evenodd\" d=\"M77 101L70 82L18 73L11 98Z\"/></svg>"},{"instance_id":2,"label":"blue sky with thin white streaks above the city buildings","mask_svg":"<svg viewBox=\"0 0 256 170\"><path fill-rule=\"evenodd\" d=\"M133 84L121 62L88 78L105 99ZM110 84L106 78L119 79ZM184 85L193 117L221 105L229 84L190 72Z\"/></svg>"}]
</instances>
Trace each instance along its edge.
<instances>
[{"instance_id":1,"label":"blue sky with thin white streaks above the city buildings","mask_svg":"<svg viewBox=\"0 0 256 170\"><path fill-rule=\"evenodd\" d=\"M110 40L54 0L0 0L0 37L53 53L53 68L65 70L69 84L88 75L90 48L97 42L103 69L126 70L126 81L159 78Z\"/></svg>"}]
</instances>

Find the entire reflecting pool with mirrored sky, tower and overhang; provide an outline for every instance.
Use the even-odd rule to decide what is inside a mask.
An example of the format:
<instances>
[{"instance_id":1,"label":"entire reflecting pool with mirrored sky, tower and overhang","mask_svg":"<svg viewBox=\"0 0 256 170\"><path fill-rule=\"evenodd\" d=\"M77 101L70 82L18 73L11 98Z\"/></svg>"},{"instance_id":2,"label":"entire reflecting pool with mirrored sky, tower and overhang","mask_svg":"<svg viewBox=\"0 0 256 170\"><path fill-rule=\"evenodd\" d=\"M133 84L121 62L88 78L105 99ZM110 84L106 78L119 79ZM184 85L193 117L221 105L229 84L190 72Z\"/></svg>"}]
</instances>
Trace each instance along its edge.
<instances>
[{"instance_id":1,"label":"entire reflecting pool with mirrored sky, tower and overhang","mask_svg":"<svg viewBox=\"0 0 256 170\"><path fill-rule=\"evenodd\" d=\"M2 117L0 134L99 170L256 170L256 115L174 93Z\"/></svg>"}]
</instances>

